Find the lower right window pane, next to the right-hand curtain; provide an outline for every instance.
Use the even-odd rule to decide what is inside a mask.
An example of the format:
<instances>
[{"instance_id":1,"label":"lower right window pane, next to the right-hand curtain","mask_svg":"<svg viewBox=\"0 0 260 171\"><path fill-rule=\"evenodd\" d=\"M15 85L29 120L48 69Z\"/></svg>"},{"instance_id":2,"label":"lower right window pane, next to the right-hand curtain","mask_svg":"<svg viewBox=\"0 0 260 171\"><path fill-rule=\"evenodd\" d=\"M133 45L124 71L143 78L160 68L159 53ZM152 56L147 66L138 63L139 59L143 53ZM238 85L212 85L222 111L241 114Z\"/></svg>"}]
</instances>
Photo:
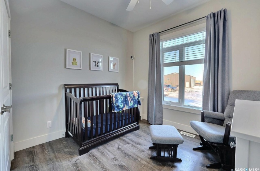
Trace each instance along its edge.
<instances>
[{"instance_id":1,"label":"lower right window pane, next to the right-hand curtain","mask_svg":"<svg viewBox=\"0 0 260 171\"><path fill-rule=\"evenodd\" d=\"M185 66L184 105L202 107L203 66Z\"/></svg>"}]
</instances>

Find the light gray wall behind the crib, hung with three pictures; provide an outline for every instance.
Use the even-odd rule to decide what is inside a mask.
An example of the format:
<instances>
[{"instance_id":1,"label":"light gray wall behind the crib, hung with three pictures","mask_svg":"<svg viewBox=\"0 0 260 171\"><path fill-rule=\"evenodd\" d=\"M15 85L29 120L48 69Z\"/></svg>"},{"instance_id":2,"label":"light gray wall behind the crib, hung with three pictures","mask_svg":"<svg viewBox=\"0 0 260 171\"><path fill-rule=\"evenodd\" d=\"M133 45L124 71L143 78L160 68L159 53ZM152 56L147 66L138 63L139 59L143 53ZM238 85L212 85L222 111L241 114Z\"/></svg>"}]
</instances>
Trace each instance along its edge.
<instances>
[{"instance_id":1,"label":"light gray wall behind the crib, hung with three pictures","mask_svg":"<svg viewBox=\"0 0 260 171\"><path fill-rule=\"evenodd\" d=\"M10 0L10 11L15 151L62 137L64 83L132 90L132 32L59 0ZM65 68L66 48L83 52L82 70ZM103 55L103 71L90 71L90 53ZM108 71L108 56L119 58L119 73Z\"/></svg>"}]
</instances>

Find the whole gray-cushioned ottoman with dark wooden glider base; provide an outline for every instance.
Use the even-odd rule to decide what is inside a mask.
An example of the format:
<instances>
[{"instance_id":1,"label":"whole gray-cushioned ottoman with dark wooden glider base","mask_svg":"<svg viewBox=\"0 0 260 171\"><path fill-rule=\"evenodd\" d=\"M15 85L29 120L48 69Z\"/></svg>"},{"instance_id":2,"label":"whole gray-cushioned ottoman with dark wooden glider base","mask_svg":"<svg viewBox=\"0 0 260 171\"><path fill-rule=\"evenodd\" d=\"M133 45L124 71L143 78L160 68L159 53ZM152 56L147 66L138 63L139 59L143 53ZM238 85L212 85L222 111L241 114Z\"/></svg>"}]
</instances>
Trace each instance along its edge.
<instances>
[{"instance_id":1,"label":"whole gray-cushioned ottoman with dark wooden glider base","mask_svg":"<svg viewBox=\"0 0 260 171\"><path fill-rule=\"evenodd\" d=\"M181 162L181 159L177 158L177 148L184 140L174 126L151 125L150 135L154 146L149 147L149 149L156 149L157 152L157 155L150 157L150 159Z\"/></svg>"}]
</instances>

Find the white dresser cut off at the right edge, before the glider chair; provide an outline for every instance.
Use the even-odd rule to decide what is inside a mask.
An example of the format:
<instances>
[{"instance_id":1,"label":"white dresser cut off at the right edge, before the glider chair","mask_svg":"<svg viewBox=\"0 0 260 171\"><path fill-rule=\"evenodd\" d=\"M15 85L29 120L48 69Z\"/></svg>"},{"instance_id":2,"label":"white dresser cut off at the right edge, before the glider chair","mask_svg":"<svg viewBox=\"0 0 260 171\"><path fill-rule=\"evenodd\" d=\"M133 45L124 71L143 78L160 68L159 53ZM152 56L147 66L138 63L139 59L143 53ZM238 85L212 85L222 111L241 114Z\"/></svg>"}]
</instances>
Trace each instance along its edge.
<instances>
[{"instance_id":1,"label":"white dresser cut off at the right edge, before the glider chair","mask_svg":"<svg viewBox=\"0 0 260 171\"><path fill-rule=\"evenodd\" d=\"M230 134L236 136L235 170L260 169L260 102L236 100Z\"/></svg>"}]
</instances>

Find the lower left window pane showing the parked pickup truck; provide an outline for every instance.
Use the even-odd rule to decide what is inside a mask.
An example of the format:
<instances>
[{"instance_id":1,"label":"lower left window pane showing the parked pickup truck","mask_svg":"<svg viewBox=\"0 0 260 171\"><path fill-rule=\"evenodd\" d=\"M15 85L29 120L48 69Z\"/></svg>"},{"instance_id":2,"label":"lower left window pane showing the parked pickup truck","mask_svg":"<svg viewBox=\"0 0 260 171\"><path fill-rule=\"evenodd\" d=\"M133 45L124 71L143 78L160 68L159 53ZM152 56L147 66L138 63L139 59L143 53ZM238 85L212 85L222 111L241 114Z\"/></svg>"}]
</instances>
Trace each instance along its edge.
<instances>
[{"instance_id":1,"label":"lower left window pane showing the parked pickup truck","mask_svg":"<svg viewBox=\"0 0 260 171\"><path fill-rule=\"evenodd\" d=\"M179 102L179 66L164 67L164 97L163 100Z\"/></svg>"}]
</instances>

